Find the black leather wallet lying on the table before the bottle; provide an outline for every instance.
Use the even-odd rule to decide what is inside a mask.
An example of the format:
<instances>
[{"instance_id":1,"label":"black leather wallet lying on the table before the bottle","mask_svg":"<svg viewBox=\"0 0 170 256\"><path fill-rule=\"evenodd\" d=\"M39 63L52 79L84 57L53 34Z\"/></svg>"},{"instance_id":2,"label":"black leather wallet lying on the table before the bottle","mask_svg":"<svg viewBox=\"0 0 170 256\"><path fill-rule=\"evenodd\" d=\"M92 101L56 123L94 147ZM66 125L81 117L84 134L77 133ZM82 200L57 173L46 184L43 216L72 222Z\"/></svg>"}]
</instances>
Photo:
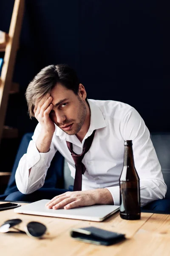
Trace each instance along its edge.
<instances>
[{"instance_id":1,"label":"black leather wallet lying on the table before the bottle","mask_svg":"<svg viewBox=\"0 0 170 256\"><path fill-rule=\"evenodd\" d=\"M84 227L71 230L71 237L91 244L111 245L125 239L125 234L115 233L96 227Z\"/></svg>"}]
</instances>

